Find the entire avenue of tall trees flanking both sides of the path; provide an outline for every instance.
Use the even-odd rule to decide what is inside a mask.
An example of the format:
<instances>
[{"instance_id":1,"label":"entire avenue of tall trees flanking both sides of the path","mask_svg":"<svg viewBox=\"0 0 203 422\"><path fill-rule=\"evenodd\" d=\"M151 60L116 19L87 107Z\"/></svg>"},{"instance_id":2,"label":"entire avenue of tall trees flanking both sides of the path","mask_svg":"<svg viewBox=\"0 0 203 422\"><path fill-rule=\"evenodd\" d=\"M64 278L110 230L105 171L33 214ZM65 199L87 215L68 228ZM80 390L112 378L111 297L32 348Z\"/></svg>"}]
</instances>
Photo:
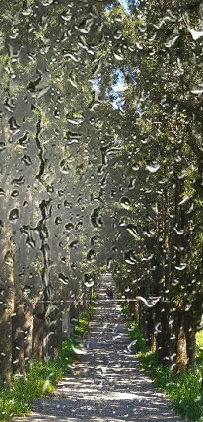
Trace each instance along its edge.
<instances>
[{"instance_id":1,"label":"entire avenue of tall trees flanking both sides of the path","mask_svg":"<svg viewBox=\"0 0 203 422\"><path fill-rule=\"evenodd\" d=\"M1 4L2 382L54 356L105 262L159 363L194 369L201 3L28 3Z\"/></svg>"}]
</instances>

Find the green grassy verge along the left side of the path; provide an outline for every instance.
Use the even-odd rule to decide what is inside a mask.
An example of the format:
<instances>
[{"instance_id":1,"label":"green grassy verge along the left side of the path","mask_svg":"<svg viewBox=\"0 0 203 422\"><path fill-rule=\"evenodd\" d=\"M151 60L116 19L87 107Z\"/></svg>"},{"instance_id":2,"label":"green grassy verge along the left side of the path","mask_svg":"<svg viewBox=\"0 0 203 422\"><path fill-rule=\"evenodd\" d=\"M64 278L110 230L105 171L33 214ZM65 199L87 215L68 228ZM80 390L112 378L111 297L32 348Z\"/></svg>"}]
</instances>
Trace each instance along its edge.
<instances>
[{"instance_id":1,"label":"green grassy verge along the left side of the path","mask_svg":"<svg viewBox=\"0 0 203 422\"><path fill-rule=\"evenodd\" d=\"M96 299L94 294L93 299ZM0 420L10 420L14 415L22 416L31 410L34 398L55 391L56 382L70 371L72 363L79 360L75 350L80 348L80 340L87 331L89 321L94 313L94 304L83 312L75 328L74 336L64 340L58 357L51 361L37 362L33 360L32 370L27 372L27 381L13 377L12 388L0 391ZM73 349L74 348L74 349Z\"/></svg>"}]
</instances>

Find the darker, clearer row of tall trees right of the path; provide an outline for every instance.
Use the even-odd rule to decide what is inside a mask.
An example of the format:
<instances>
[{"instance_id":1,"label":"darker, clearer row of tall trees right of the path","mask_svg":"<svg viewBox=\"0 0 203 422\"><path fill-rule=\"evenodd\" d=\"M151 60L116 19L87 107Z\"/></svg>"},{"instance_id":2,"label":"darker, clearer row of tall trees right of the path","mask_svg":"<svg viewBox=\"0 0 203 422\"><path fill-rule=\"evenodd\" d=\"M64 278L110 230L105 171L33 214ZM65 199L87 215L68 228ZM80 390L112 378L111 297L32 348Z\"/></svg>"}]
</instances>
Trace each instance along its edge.
<instances>
[{"instance_id":1,"label":"darker, clearer row of tall trees right of the path","mask_svg":"<svg viewBox=\"0 0 203 422\"><path fill-rule=\"evenodd\" d=\"M124 87L116 98L110 91L122 116L114 278L140 298L143 335L177 373L195 369L202 314L202 4L128 6L105 16L109 37L112 25L120 37L119 57L109 42L106 72Z\"/></svg>"}]
</instances>

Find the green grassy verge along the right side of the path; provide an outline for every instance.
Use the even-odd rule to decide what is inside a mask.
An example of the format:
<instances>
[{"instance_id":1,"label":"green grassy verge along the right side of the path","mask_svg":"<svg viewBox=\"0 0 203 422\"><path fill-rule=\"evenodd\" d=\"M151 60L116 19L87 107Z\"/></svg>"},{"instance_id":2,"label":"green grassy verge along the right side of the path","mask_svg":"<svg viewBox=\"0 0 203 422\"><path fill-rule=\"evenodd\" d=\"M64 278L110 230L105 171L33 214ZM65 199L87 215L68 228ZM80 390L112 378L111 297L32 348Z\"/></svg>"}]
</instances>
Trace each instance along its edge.
<instances>
[{"instance_id":1,"label":"green grassy verge along the right side of the path","mask_svg":"<svg viewBox=\"0 0 203 422\"><path fill-rule=\"evenodd\" d=\"M158 365L155 353L146 347L138 324L132 322L129 309L122 306L129 335L135 341L134 349L141 360L143 370L155 381L155 385L172 400L172 406L186 419L203 422L203 393L200 381L203 370L203 330L196 334L196 371L174 376L170 368Z\"/></svg>"}]
</instances>

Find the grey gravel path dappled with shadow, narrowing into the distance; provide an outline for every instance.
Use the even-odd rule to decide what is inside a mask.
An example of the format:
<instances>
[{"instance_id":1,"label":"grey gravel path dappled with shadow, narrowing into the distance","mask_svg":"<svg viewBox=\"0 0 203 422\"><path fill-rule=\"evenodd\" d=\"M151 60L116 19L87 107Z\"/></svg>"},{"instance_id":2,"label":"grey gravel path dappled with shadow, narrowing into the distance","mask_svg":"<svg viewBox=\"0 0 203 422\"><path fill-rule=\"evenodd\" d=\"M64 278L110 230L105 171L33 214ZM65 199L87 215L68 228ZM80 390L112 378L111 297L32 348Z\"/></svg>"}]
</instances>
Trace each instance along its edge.
<instances>
[{"instance_id":1,"label":"grey gravel path dappled with shadow, narrowing into the distance","mask_svg":"<svg viewBox=\"0 0 203 422\"><path fill-rule=\"evenodd\" d=\"M130 350L130 339L119 301L105 300L104 275L95 315L84 339L82 355L73 373L57 384L55 393L36 399L33 411L14 421L26 422L180 422L171 402L141 371L138 357ZM115 297L115 293L114 293Z\"/></svg>"}]
</instances>

